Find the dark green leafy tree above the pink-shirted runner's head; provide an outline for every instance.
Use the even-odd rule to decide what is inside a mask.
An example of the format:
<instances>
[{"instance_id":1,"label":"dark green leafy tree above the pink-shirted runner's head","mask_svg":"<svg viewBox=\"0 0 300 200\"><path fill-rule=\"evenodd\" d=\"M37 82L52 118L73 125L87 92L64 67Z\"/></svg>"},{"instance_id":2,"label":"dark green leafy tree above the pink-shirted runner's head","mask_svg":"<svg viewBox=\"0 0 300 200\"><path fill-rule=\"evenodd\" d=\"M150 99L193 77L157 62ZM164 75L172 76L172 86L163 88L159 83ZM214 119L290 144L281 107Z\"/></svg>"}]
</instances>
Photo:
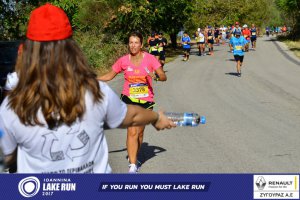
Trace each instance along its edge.
<instances>
[{"instance_id":1,"label":"dark green leafy tree above the pink-shirted runner's head","mask_svg":"<svg viewBox=\"0 0 300 200\"><path fill-rule=\"evenodd\" d=\"M113 15L107 30L123 39L136 30L143 35L164 31L176 44L176 34L188 21L191 6L190 0L125 0Z\"/></svg>"}]
</instances>

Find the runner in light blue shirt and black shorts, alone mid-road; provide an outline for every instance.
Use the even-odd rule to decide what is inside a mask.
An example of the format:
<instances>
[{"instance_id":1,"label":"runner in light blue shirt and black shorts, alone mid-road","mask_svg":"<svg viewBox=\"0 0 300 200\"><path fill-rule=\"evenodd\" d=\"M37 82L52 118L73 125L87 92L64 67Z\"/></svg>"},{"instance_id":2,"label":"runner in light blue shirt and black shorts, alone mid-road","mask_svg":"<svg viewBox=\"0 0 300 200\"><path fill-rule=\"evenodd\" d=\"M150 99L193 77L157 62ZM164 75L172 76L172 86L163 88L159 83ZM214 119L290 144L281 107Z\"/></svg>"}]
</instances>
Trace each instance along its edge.
<instances>
[{"instance_id":1,"label":"runner in light blue shirt and black shorts, alone mid-road","mask_svg":"<svg viewBox=\"0 0 300 200\"><path fill-rule=\"evenodd\" d=\"M242 75L241 73L241 67L244 60L244 49L245 45L247 44L247 40L241 36L240 31L236 31L235 35L230 39L230 44L233 48L233 56L236 61L236 70L237 75L240 77Z\"/></svg>"}]
</instances>

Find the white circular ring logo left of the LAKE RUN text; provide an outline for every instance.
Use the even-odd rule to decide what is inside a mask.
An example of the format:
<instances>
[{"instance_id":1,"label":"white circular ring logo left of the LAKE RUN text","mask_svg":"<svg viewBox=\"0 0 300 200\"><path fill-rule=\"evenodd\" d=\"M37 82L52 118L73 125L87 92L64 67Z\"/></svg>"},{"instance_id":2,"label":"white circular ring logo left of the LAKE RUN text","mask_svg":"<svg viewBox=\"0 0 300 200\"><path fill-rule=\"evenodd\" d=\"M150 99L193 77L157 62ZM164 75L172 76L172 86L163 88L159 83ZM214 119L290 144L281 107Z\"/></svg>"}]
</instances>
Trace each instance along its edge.
<instances>
[{"instance_id":1,"label":"white circular ring logo left of the LAKE RUN text","mask_svg":"<svg viewBox=\"0 0 300 200\"><path fill-rule=\"evenodd\" d=\"M23 178L19 182L18 188L23 197L33 197L40 190L40 180L34 176Z\"/></svg>"}]
</instances>

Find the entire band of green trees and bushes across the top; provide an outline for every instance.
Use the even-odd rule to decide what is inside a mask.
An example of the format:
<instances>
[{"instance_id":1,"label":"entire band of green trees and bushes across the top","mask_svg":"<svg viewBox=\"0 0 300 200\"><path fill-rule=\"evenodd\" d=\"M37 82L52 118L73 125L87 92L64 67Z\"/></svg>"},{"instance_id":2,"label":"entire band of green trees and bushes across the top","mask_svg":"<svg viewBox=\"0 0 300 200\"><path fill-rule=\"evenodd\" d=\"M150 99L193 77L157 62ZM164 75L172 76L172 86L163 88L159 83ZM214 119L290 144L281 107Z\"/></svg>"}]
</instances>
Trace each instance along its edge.
<instances>
[{"instance_id":1,"label":"entire band of green trees and bushes across the top","mask_svg":"<svg viewBox=\"0 0 300 200\"><path fill-rule=\"evenodd\" d=\"M77 33L74 38L94 66L107 61L103 55L111 51L104 52L108 49L104 44L114 49L132 31L144 36L163 31L176 45L181 30L193 33L198 27L228 26L235 21L258 27L281 26L285 21L300 30L299 0L0 0L0 40L24 37L31 10L46 2L65 10Z\"/></svg>"}]
</instances>

